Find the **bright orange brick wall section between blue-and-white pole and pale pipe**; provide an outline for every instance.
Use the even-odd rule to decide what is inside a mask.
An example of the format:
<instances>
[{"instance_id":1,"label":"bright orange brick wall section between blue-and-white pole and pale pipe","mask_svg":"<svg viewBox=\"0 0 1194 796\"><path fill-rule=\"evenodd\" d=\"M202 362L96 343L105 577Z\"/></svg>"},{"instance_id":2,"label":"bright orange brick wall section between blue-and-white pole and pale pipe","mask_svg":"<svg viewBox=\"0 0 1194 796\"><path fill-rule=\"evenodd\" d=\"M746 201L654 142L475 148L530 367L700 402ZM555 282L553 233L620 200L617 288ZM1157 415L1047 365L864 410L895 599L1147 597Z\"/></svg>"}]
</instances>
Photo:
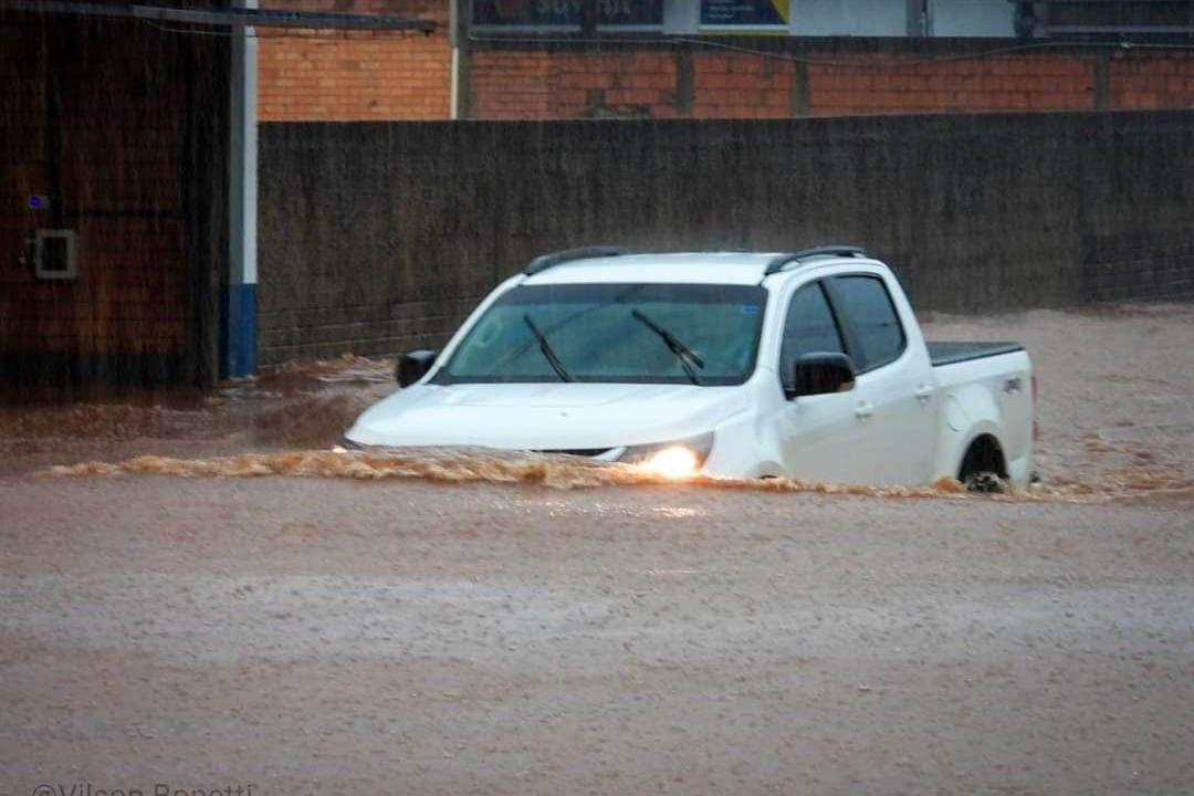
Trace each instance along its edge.
<instances>
[{"instance_id":1,"label":"bright orange brick wall section between blue-and-white pole and pale pipe","mask_svg":"<svg viewBox=\"0 0 1194 796\"><path fill-rule=\"evenodd\" d=\"M263 8L386 13L431 19L432 33L261 29L258 116L443 119L450 113L448 4L436 0L263 0Z\"/></svg>"}]
</instances>

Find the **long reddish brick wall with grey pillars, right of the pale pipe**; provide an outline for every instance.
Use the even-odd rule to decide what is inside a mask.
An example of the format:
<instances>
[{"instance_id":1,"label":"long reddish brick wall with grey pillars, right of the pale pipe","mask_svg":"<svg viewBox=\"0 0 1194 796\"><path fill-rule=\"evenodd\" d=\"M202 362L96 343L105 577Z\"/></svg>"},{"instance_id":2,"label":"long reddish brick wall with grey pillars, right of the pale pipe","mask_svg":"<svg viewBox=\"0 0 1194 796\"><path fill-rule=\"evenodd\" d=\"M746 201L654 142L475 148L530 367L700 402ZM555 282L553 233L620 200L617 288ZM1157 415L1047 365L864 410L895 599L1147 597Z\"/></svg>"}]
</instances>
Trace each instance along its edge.
<instances>
[{"instance_id":1,"label":"long reddish brick wall with grey pillars, right of the pale pipe","mask_svg":"<svg viewBox=\"0 0 1194 796\"><path fill-rule=\"evenodd\" d=\"M776 118L1194 106L1194 51L1007 53L1008 42L734 39L515 45L472 55L476 118ZM1002 53L975 56L977 51Z\"/></svg>"}]
</instances>

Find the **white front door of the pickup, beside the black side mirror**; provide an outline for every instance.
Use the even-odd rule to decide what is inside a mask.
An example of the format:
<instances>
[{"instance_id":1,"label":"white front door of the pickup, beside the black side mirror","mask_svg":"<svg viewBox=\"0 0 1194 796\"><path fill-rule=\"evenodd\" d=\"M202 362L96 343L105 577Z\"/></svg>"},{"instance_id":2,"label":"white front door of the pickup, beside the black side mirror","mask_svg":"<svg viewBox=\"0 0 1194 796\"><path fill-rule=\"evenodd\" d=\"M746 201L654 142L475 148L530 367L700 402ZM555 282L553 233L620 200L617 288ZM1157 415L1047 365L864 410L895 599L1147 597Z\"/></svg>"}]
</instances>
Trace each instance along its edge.
<instances>
[{"instance_id":1,"label":"white front door of the pickup, beside the black side mirror","mask_svg":"<svg viewBox=\"0 0 1194 796\"><path fill-rule=\"evenodd\" d=\"M842 352L845 345L820 282L800 288L788 304L780 346L781 385L792 380L792 363L813 352ZM866 482L860 461L867 456L855 418L853 391L788 399L777 416L780 456L794 479Z\"/></svg>"}]
</instances>

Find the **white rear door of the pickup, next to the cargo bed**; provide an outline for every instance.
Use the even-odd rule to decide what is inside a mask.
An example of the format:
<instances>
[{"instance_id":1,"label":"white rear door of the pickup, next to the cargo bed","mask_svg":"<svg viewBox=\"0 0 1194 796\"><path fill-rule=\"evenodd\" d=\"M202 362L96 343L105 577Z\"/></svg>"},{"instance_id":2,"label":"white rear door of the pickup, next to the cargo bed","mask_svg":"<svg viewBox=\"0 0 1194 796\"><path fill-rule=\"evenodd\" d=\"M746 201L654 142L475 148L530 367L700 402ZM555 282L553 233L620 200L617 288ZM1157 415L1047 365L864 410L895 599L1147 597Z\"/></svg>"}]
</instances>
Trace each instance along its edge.
<instances>
[{"instance_id":1,"label":"white rear door of the pickup, next to the cargo bed","mask_svg":"<svg viewBox=\"0 0 1194 796\"><path fill-rule=\"evenodd\" d=\"M825 286L857 372L854 419L864 430L860 452L867 480L925 483L933 476L938 397L924 346L910 345L881 276L838 276Z\"/></svg>"}]
</instances>

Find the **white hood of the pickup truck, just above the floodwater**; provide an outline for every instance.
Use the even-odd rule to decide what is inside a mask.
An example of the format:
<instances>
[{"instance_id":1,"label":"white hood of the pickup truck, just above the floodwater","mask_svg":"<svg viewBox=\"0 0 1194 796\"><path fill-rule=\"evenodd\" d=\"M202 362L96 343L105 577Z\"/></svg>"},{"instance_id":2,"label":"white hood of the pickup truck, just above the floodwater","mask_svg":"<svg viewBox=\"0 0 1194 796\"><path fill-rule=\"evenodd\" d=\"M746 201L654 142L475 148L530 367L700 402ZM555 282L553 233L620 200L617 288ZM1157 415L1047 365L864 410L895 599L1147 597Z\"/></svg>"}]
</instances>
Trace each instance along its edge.
<instances>
[{"instance_id":1,"label":"white hood of the pickup truck, just above the floodwater","mask_svg":"<svg viewBox=\"0 0 1194 796\"><path fill-rule=\"evenodd\" d=\"M608 449L684 439L746 406L741 387L417 384L367 409L346 437L364 445Z\"/></svg>"}]
</instances>

